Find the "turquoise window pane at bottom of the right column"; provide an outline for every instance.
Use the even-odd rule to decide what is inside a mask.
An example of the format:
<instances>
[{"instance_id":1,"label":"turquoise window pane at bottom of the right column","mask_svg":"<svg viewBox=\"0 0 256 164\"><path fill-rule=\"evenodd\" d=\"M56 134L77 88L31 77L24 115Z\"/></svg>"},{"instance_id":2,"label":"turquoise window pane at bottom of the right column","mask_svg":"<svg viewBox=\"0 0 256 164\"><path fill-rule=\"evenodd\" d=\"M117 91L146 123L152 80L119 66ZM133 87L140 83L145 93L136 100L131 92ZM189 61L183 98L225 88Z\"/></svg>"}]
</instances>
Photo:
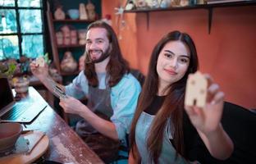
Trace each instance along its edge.
<instances>
[{"instance_id":1,"label":"turquoise window pane at bottom of the right column","mask_svg":"<svg viewBox=\"0 0 256 164\"><path fill-rule=\"evenodd\" d=\"M43 34L23 35L22 54L26 57L39 57L43 55Z\"/></svg>"}]
</instances>

